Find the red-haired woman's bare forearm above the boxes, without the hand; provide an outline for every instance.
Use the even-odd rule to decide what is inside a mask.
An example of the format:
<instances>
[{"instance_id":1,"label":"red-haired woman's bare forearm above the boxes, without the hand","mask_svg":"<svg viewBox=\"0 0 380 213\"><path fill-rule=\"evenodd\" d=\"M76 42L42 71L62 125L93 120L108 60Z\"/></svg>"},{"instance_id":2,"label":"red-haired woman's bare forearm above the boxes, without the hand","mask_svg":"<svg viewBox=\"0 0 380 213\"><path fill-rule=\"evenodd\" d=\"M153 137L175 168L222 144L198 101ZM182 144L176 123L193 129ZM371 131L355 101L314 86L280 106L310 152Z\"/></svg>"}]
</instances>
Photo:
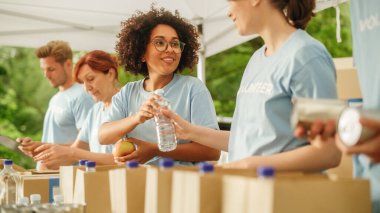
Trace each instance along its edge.
<instances>
[{"instance_id":1,"label":"red-haired woman's bare forearm above the boxes, without the hand","mask_svg":"<svg viewBox=\"0 0 380 213\"><path fill-rule=\"evenodd\" d=\"M115 164L113 155L109 153L94 153L83 149L71 148L73 149L73 155L71 160L78 162L79 160L85 159L90 161L95 161L97 165L111 165Z\"/></svg>"}]
</instances>

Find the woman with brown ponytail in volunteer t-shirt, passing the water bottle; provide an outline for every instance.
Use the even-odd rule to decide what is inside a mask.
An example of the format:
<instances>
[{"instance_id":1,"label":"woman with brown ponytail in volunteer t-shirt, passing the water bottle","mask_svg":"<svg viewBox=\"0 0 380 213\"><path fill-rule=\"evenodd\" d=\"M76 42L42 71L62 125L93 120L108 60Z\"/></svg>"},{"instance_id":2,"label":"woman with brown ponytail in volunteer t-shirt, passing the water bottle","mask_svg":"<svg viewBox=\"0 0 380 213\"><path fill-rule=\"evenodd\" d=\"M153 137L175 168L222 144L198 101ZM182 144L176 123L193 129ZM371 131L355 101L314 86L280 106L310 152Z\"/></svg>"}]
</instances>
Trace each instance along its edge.
<instances>
[{"instance_id":1,"label":"woman with brown ponytail in volunteer t-shirt, passing the water bottle","mask_svg":"<svg viewBox=\"0 0 380 213\"><path fill-rule=\"evenodd\" d=\"M231 131L191 125L171 111L177 136L228 151L226 167L273 166L321 171L339 164L333 141L310 145L290 125L292 97L336 98L336 74L326 48L304 29L314 0L229 1L229 16L241 35L265 42L251 57L236 97Z\"/></svg>"}]
</instances>

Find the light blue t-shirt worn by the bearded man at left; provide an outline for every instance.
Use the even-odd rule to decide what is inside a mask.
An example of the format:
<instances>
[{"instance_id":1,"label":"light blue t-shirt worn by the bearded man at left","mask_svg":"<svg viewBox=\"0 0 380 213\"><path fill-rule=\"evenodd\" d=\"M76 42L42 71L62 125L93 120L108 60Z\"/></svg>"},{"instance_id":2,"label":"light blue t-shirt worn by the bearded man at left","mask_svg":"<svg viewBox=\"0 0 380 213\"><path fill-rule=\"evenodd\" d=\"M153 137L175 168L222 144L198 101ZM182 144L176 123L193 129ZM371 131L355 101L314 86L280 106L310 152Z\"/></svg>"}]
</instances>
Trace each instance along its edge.
<instances>
[{"instance_id":1,"label":"light blue t-shirt worn by the bearded man at left","mask_svg":"<svg viewBox=\"0 0 380 213\"><path fill-rule=\"evenodd\" d=\"M56 93L45 114L41 141L53 144L74 142L93 105L92 98L77 83Z\"/></svg>"}]
</instances>

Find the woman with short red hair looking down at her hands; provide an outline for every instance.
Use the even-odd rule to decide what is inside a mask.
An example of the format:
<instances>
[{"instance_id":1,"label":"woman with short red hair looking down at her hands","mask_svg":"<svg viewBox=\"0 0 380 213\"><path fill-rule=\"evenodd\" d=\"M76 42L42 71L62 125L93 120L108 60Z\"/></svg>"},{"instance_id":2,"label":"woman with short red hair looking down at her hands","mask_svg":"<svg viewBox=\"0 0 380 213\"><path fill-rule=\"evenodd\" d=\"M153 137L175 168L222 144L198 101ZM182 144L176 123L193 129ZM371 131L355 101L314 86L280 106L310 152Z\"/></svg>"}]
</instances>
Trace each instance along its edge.
<instances>
[{"instance_id":1,"label":"woman with short red hair looking down at her hands","mask_svg":"<svg viewBox=\"0 0 380 213\"><path fill-rule=\"evenodd\" d=\"M118 62L115 56L94 50L81 57L74 69L74 78L84 84L86 91L97 102L88 113L84 125L69 146L44 144L36 148L34 159L42 160L49 169L72 165L80 159L95 161L97 165L114 164L112 145L101 145L98 140L99 126L111 106L111 99L119 91Z\"/></svg>"}]
</instances>

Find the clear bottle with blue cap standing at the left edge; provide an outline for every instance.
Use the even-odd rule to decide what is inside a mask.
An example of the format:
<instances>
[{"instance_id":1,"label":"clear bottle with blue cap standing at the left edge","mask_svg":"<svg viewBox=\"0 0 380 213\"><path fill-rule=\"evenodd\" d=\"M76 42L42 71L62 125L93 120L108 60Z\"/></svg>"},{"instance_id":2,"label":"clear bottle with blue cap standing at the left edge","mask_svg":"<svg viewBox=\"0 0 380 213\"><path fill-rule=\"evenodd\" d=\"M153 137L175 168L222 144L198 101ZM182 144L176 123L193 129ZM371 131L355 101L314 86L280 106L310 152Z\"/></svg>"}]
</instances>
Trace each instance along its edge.
<instances>
[{"instance_id":1,"label":"clear bottle with blue cap standing at the left edge","mask_svg":"<svg viewBox=\"0 0 380 213\"><path fill-rule=\"evenodd\" d=\"M4 160L4 169L0 172L1 182L4 183L4 195L1 204L16 204L21 197L21 178L12 168L12 160Z\"/></svg>"}]
</instances>

